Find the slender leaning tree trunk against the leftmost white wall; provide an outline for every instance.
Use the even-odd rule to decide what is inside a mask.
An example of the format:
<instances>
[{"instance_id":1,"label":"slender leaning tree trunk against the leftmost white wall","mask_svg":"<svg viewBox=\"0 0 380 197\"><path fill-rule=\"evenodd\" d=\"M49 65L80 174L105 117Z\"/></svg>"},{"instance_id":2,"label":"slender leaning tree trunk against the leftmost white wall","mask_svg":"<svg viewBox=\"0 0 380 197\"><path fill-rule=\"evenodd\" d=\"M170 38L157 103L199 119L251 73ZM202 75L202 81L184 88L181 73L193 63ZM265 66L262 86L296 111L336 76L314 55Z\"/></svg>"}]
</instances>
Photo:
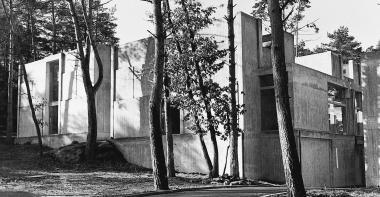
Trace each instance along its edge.
<instances>
[{"instance_id":1,"label":"slender leaning tree trunk against the leftmost white wall","mask_svg":"<svg viewBox=\"0 0 380 197\"><path fill-rule=\"evenodd\" d=\"M24 77L24 83L26 86L26 93L28 95L28 102L29 102L30 111L32 113L32 119L34 122L34 127L36 128L36 131L37 131L38 145L40 146L40 156L42 156L43 147L42 147L41 129L40 129L40 126L38 124L37 117L36 117L36 111L34 109L34 105L33 105L33 101L32 101L32 95L30 93L28 75L26 73L25 64L23 62L21 62L21 69L22 69L22 74Z\"/></svg>"}]
</instances>

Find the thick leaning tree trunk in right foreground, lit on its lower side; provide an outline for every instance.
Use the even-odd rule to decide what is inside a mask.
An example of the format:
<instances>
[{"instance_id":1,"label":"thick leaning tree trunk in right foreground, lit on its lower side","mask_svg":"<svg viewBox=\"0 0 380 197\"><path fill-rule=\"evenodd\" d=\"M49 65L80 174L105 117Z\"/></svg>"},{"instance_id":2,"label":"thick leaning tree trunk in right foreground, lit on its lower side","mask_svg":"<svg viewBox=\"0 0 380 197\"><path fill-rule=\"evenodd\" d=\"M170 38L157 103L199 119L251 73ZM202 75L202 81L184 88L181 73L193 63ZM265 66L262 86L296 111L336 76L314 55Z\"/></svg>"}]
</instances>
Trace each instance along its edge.
<instances>
[{"instance_id":1,"label":"thick leaning tree trunk in right foreground, lit on its lower side","mask_svg":"<svg viewBox=\"0 0 380 197\"><path fill-rule=\"evenodd\" d=\"M272 30L272 66L282 161L289 195L306 196L290 114L284 32L278 0L268 1Z\"/></svg>"}]
</instances>

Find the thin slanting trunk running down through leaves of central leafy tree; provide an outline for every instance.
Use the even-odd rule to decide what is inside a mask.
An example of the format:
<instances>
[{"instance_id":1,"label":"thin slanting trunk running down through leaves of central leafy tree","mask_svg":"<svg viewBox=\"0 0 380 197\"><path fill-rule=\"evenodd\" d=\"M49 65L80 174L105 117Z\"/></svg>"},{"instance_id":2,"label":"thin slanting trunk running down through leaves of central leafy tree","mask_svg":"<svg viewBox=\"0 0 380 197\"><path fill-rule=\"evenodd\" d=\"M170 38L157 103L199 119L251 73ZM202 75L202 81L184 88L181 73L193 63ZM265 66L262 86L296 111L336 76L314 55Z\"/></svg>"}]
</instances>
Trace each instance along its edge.
<instances>
[{"instance_id":1,"label":"thin slanting trunk running down through leaves of central leafy tree","mask_svg":"<svg viewBox=\"0 0 380 197\"><path fill-rule=\"evenodd\" d=\"M171 28L172 30L172 35L173 35L173 38L175 40L175 43L176 43L176 47L177 47L177 50L178 50L178 53L179 54L182 54L182 48L181 48L181 44L180 42L178 41L177 39L177 32L175 30L175 28L173 28L173 22L171 20L171 10L170 10L170 4L169 4L169 1L168 0L165 0L165 6L166 6L166 10L167 10L167 17L168 17L168 24L169 24L169 28ZM189 98L194 100L194 95L193 95L193 92L191 91L191 84L190 84L190 77L189 77L189 72L186 71L186 87L187 89L189 90ZM199 137L199 141L201 143L201 147L202 147L202 153L203 153L203 157L204 159L206 160L206 164L207 164L207 168L209 170L209 177L212 177L212 163L211 163L211 159L210 159L210 155L208 154L208 150L207 150L207 147L206 147L206 144L205 144L205 141L203 139L203 132L202 132L202 129L199 125L199 118L197 115L194 115L194 122L195 122L195 125L196 125L196 128L197 128L197 133L198 133L198 137Z\"/></svg>"}]
</instances>

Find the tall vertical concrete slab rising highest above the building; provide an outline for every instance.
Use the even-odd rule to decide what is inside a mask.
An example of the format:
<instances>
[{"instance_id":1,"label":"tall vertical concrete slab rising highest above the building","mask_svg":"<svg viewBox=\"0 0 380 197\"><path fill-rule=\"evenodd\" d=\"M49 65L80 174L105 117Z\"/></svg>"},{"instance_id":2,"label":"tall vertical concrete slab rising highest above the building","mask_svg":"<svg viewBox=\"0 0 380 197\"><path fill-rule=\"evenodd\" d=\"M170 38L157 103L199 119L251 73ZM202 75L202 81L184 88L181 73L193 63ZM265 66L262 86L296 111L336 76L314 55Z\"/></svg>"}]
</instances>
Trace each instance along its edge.
<instances>
[{"instance_id":1,"label":"tall vertical concrete slab rising highest above the building","mask_svg":"<svg viewBox=\"0 0 380 197\"><path fill-rule=\"evenodd\" d=\"M261 21L244 13L239 13L235 21L240 24L236 25L236 73L240 91L244 92L240 102L245 105L246 110L244 116L240 117L240 124L244 130L242 169L245 177L256 178L255 172L260 171L261 162L260 144L255 140L255 134L260 128L260 94L259 79L254 70L261 67Z\"/></svg>"}]
</instances>

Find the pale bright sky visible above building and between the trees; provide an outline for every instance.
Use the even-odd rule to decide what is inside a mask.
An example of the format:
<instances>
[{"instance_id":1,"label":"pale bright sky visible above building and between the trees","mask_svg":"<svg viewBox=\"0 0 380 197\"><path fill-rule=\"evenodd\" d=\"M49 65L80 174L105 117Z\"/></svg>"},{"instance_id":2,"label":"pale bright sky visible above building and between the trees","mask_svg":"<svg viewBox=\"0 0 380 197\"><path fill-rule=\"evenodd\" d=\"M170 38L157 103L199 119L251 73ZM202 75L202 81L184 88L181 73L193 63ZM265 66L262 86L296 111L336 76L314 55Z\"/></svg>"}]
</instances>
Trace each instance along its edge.
<instances>
[{"instance_id":1,"label":"pale bright sky visible above building and between the trees","mask_svg":"<svg viewBox=\"0 0 380 197\"><path fill-rule=\"evenodd\" d=\"M218 7L216 17L226 13L226 7L220 7L227 0L200 0L205 6ZM252 12L256 0L235 0L236 12ZM305 12L305 19L301 22L316 21L319 33L301 32L300 40L306 41L308 48L315 48L321 43L328 42L327 32L344 25L350 30L357 41L362 43L364 49L374 45L380 40L380 0L310 0L311 8ZM116 6L117 36L120 44L148 37L147 30L152 24L147 21L148 13L152 10L151 4L141 0L113 0L109 6ZM226 30L227 31L227 30Z\"/></svg>"}]
</instances>

